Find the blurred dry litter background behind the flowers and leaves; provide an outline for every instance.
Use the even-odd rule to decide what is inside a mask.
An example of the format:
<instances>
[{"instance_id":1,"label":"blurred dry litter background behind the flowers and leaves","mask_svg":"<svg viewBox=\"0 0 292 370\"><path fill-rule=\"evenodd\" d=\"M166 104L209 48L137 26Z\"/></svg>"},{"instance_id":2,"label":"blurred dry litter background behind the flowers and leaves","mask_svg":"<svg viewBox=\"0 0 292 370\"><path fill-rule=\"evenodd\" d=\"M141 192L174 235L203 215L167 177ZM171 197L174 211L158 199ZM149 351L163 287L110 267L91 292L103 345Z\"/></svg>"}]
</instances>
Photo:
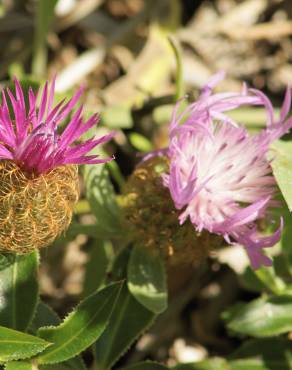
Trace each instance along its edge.
<instances>
[{"instance_id":1,"label":"blurred dry litter background behind the flowers and leaves","mask_svg":"<svg viewBox=\"0 0 292 370\"><path fill-rule=\"evenodd\" d=\"M116 157L110 178L119 192L137 153L165 146L178 76L180 91L193 99L223 69L220 89L239 90L246 81L279 106L292 84L291 36L291 0L1 0L0 80L4 86L17 76L23 85L38 86L57 76L58 97L84 85L87 114L100 112L100 131L116 130L106 149ZM260 109L236 114L251 131L265 124ZM94 258L104 258L110 269L111 245L100 254L98 238L80 229L93 224L82 198L75 229L73 223L43 252L42 296L61 316L92 291ZM174 288L177 304L121 364L152 358L175 365L225 356L238 346L221 312L257 297L263 287L250 271L243 281L246 257L240 248L228 250L210 259L199 281L193 271L174 273L181 280Z\"/></svg>"}]
</instances>

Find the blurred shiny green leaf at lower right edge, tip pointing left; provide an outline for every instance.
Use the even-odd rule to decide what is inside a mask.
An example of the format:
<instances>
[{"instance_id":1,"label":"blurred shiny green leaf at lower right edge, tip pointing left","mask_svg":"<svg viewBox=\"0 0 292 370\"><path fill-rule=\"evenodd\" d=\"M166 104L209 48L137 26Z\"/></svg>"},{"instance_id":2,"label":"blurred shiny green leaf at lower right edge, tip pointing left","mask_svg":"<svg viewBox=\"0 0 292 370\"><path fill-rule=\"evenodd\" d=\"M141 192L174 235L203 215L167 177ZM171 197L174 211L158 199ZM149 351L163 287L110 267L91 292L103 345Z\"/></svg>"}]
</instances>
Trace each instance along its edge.
<instances>
[{"instance_id":1,"label":"blurred shiny green leaf at lower right edge, tip pointing left","mask_svg":"<svg viewBox=\"0 0 292 370\"><path fill-rule=\"evenodd\" d=\"M268 337L292 330L292 296L260 298L237 305L223 315L227 327L239 334Z\"/></svg>"}]
</instances>

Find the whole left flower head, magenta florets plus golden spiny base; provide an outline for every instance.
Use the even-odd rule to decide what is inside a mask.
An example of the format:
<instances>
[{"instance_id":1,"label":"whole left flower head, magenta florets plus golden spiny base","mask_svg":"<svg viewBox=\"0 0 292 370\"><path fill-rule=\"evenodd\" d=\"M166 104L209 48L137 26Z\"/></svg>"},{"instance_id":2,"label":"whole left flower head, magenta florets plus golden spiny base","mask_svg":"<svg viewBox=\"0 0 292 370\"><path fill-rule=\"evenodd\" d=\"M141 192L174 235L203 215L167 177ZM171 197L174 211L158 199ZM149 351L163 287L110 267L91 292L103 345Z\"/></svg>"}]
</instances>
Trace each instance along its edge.
<instances>
[{"instance_id":1,"label":"whole left flower head, magenta florets plus golden spiny base","mask_svg":"<svg viewBox=\"0 0 292 370\"><path fill-rule=\"evenodd\" d=\"M79 196L77 165L110 160L87 153L112 133L74 144L98 122L96 114L84 122L80 106L58 132L82 89L54 105L55 82L46 83L36 94L29 89L26 106L20 83L14 83L15 95L3 90L0 106L0 248L27 253L68 227Z\"/></svg>"}]
</instances>

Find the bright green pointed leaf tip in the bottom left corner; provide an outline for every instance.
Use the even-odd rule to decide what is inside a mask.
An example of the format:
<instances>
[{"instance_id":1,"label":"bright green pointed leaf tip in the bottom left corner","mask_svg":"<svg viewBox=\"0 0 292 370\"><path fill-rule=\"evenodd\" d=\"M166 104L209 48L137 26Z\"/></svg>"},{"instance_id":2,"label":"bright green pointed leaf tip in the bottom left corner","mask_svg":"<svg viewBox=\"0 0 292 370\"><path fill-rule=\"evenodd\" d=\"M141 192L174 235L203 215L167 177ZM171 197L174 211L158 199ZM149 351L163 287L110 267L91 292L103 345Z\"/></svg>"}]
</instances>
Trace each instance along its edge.
<instances>
[{"instance_id":1,"label":"bright green pointed leaf tip in the bottom left corner","mask_svg":"<svg viewBox=\"0 0 292 370\"><path fill-rule=\"evenodd\" d=\"M26 359L49 345L41 338L0 326L0 361Z\"/></svg>"}]
</instances>

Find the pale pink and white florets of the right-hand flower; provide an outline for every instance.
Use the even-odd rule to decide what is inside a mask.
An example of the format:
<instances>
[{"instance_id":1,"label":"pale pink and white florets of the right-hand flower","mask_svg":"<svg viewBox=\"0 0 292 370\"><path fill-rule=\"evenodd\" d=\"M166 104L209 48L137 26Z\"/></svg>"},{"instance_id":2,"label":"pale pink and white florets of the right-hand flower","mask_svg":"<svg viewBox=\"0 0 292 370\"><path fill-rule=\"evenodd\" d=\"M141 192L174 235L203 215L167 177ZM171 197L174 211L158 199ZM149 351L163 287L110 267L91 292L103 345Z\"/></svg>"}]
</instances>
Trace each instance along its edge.
<instances>
[{"instance_id":1,"label":"pale pink and white florets of the right-hand flower","mask_svg":"<svg viewBox=\"0 0 292 370\"><path fill-rule=\"evenodd\" d=\"M280 119L275 120L269 99L245 85L240 93L213 94L212 88L224 77L210 79L199 99L178 114L177 103L170 123L170 144L166 151L169 174L163 182L169 188L179 222L190 219L200 232L223 235L228 243L242 244L254 269L270 266L263 248L281 237L282 221L271 236L260 236L256 221L276 206L275 179L267 159L270 144L287 133L292 119L286 119L291 104L287 88ZM250 135L225 112L242 105L263 106L267 127Z\"/></svg>"}]
</instances>

